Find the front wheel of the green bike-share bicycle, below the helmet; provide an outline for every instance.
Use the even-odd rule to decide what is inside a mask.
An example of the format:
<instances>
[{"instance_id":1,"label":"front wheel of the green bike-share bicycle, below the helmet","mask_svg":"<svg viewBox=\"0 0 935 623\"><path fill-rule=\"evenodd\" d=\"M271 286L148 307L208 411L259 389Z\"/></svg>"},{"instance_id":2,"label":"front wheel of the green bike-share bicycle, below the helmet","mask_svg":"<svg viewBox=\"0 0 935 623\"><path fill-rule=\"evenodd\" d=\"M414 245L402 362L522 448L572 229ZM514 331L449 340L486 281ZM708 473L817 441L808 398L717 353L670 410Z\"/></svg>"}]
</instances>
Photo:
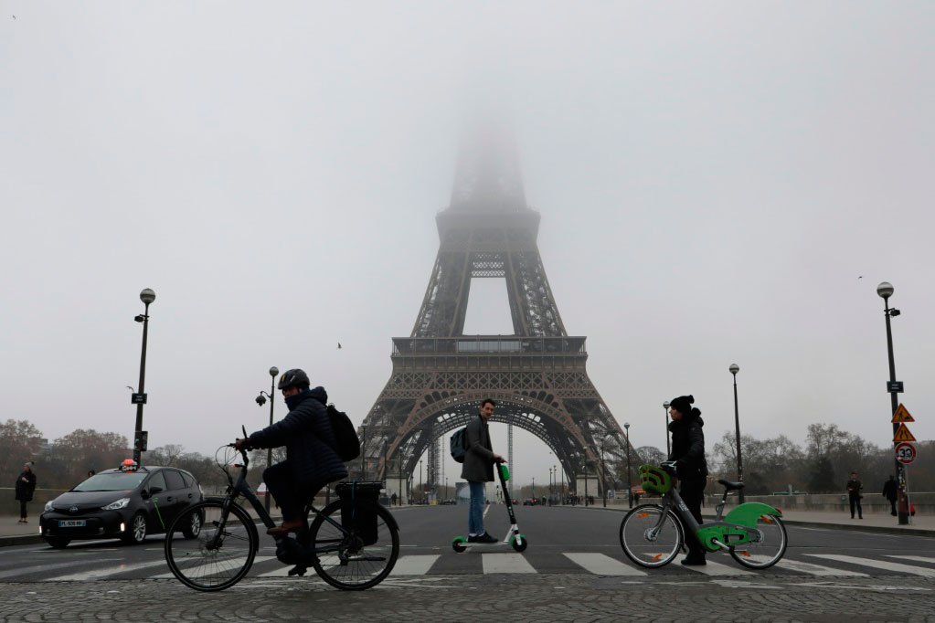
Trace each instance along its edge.
<instances>
[{"instance_id":1,"label":"front wheel of the green bike-share bicycle, below the helmet","mask_svg":"<svg viewBox=\"0 0 935 623\"><path fill-rule=\"evenodd\" d=\"M662 567L679 554L684 542L682 522L656 504L637 506L620 523L620 545L626 558L640 567Z\"/></svg>"}]
</instances>

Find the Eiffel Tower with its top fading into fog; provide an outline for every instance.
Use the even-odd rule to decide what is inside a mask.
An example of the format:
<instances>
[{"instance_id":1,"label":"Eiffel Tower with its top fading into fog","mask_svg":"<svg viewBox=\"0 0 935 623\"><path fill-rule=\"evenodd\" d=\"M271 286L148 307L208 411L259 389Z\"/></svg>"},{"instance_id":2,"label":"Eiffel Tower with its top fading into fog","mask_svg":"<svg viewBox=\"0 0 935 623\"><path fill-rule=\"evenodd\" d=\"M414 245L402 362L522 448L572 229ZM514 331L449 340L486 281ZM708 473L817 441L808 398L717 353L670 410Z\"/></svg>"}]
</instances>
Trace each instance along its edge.
<instances>
[{"instance_id":1,"label":"Eiffel Tower with its top fading into fog","mask_svg":"<svg viewBox=\"0 0 935 623\"><path fill-rule=\"evenodd\" d=\"M532 432L569 484L583 477L588 493L601 495L626 481L628 438L588 378L585 338L569 336L558 313L536 242L539 212L526 205L505 135L488 128L462 142L422 307L410 336L393 338L393 374L358 431L363 457L354 467L405 490L417 463L421 483L427 451L424 488L434 490L446 433L492 398L493 421ZM513 334L465 335L471 280L491 277L506 280Z\"/></svg>"}]
</instances>

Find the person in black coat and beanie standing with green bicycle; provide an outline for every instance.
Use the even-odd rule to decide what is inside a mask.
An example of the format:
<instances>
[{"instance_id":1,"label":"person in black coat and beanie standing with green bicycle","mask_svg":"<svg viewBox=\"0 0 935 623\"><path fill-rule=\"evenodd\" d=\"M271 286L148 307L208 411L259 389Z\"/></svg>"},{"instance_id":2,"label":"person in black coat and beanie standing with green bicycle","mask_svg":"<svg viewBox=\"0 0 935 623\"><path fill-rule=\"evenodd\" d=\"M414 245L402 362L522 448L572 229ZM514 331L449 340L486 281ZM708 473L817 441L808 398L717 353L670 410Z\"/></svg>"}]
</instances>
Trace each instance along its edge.
<instances>
[{"instance_id":1,"label":"person in black coat and beanie standing with green bicycle","mask_svg":"<svg viewBox=\"0 0 935 623\"><path fill-rule=\"evenodd\" d=\"M669 402L669 432L672 433L672 451L669 460L675 461L679 476L679 495L688 507L692 517L701 523L701 500L708 481L708 461L704 458L704 420L701 411L693 407L695 397L679 396ZM682 560L685 565L703 565L704 546L694 534L685 534L688 556Z\"/></svg>"}]
</instances>

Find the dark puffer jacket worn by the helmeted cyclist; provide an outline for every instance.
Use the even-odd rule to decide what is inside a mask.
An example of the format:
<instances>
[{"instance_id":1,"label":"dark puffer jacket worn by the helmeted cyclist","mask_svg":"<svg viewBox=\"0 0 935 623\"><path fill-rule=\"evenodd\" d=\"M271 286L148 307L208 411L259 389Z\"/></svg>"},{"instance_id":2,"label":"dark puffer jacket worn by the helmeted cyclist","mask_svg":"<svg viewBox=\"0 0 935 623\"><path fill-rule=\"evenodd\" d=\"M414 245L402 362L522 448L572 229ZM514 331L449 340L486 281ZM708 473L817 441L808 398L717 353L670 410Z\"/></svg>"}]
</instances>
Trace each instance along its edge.
<instances>
[{"instance_id":1,"label":"dark puffer jacket worn by the helmeted cyclist","mask_svg":"<svg viewBox=\"0 0 935 623\"><path fill-rule=\"evenodd\" d=\"M331 430L324 388L303 389L286 398L289 413L262 431L250 435L252 447L286 446L286 461L295 482L326 483L346 478L347 467L335 452L338 442Z\"/></svg>"}]
</instances>

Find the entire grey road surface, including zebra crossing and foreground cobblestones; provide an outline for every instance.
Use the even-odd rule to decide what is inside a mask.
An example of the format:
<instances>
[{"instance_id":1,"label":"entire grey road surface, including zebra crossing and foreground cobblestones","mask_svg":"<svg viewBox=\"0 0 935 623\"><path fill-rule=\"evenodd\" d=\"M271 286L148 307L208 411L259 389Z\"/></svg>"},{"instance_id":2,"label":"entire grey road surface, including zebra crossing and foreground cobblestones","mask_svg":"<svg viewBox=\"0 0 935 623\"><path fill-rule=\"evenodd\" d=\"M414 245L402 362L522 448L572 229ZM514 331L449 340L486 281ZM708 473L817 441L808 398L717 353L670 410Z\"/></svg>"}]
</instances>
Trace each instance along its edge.
<instances>
[{"instance_id":1,"label":"entire grey road surface, including zebra crossing and foreground cobblestones","mask_svg":"<svg viewBox=\"0 0 935 623\"><path fill-rule=\"evenodd\" d=\"M784 561L765 572L726 555L704 568L677 561L640 570L618 544L622 513L519 507L523 554L490 547L456 554L464 506L394 509L401 558L380 587L341 592L314 575L286 578L275 559L222 593L182 587L168 573L162 537L145 545L74 542L0 552L0 616L6 621L289 620L935 620L935 539L788 527ZM506 509L485 523L502 536ZM274 555L263 537L260 557Z\"/></svg>"}]
</instances>

